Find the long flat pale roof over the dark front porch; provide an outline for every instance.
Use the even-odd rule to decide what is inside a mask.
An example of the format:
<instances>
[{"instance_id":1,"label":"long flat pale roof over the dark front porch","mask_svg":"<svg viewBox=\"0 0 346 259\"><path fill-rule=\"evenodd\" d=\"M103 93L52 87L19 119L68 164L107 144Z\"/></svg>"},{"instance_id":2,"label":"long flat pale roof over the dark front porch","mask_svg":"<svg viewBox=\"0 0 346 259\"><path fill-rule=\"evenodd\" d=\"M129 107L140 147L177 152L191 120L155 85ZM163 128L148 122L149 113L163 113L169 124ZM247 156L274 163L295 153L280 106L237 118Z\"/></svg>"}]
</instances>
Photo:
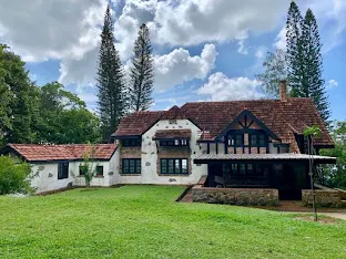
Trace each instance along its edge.
<instances>
[{"instance_id":1,"label":"long flat pale roof over the dark front porch","mask_svg":"<svg viewBox=\"0 0 346 259\"><path fill-rule=\"evenodd\" d=\"M313 158L315 164L336 164L336 157L330 156L317 156L306 154L205 154L194 159L194 164L210 164L210 163L304 163Z\"/></svg>"}]
</instances>

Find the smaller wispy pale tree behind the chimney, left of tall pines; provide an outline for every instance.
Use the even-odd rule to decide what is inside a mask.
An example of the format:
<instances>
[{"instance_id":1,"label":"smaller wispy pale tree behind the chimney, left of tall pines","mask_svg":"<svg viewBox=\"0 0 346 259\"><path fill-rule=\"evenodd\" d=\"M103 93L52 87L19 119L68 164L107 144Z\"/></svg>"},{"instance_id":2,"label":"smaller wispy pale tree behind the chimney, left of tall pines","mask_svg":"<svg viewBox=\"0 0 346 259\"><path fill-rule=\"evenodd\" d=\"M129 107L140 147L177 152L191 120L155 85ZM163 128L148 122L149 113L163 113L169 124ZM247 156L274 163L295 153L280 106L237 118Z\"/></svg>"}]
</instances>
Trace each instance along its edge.
<instances>
[{"instance_id":1,"label":"smaller wispy pale tree behind the chimney, left of tall pines","mask_svg":"<svg viewBox=\"0 0 346 259\"><path fill-rule=\"evenodd\" d=\"M263 62L265 71L256 77L262 82L262 90L268 99L277 99L279 95L278 83L282 80L288 81L286 52L277 49L275 53L267 52Z\"/></svg>"}]
</instances>

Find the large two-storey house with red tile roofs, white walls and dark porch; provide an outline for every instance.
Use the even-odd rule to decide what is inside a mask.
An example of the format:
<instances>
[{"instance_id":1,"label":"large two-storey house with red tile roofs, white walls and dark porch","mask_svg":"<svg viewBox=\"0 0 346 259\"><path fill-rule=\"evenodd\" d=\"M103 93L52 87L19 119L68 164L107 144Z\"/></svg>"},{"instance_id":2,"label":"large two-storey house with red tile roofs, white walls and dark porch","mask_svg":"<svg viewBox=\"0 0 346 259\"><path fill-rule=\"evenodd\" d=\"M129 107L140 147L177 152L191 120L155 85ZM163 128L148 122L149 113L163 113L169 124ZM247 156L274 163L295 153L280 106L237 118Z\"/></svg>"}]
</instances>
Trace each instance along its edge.
<instances>
[{"instance_id":1,"label":"large two-storey house with red tile roofs, white walls and dark porch","mask_svg":"<svg viewBox=\"0 0 346 259\"><path fill-rule=\"evenodd\" d=\"M316 154L309 156L303 132L315 125L322 134L314 138ZM135 112L120 122L112 137L115 144L98 145L106 149L98 157L104 163L103 177L95 177L92 185L196 185L196 201L277 204L278 199L302 199L311 188L309 159L313 157L315 165L336 163L334 157L318 155L334 143L313 101L287 97L284 82L279 100L196 102L169 111ZM69 148L83 149L83 145L74 146ZM73 175L79 175L81 152L64 157L70 154L64 153L65 147L51 146L47 159L44 147L27 146L32 159L20 147L10 145L30 163L49 160L54 182L59 182L59 163L64 160ZM83 185L82 177L71 177L50 187L40 182L41 190L68 182Z\"/></svg>"}]
</instances>

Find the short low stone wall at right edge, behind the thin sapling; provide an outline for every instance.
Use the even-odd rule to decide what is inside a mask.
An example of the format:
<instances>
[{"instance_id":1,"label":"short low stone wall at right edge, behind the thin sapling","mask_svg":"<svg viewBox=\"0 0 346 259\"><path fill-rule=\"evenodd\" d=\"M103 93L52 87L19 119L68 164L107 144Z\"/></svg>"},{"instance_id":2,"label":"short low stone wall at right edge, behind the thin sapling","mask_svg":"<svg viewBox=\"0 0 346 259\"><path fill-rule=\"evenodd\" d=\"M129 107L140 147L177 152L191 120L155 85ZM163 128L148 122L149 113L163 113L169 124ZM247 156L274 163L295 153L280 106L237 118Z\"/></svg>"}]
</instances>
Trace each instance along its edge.
<instances>
[{"instance_id":1,"label":"short low stone wall at right edge, behind the thin sapling","mask_svg":"<svg viewBox=\"0 0 346 259\"><path fill-rule=\"evenodd\" d=\"M315 194L317 207L332 207L332 208L345 207L345 204L342 203L342 195L338 190L316 189ZM306 207L313 206L313 191L309 189L303 189L302 201L303 205Z\"/></svg>"}]
</instances>

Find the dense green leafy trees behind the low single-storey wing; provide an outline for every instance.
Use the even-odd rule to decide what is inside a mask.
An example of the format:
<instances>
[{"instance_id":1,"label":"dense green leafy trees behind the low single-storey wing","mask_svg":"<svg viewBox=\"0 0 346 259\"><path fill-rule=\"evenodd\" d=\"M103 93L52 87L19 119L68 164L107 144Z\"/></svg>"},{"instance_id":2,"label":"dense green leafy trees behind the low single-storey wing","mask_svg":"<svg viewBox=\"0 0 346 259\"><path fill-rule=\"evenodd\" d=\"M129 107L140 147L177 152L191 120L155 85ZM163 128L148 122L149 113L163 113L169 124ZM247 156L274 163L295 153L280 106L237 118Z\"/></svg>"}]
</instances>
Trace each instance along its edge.
<instances>
[{"instance_id":1,"label":"dense green leafy trees behind the low single-storey wing","mask_svg":"<svg viewBox=\"0 0 346 259\"><path fill-rule=\"evenodd\" d=\"M98 116L63 85L37 86L24 62L0 45L0 147L8 143L96 143Z\"/></svg>"}]
</instances>

